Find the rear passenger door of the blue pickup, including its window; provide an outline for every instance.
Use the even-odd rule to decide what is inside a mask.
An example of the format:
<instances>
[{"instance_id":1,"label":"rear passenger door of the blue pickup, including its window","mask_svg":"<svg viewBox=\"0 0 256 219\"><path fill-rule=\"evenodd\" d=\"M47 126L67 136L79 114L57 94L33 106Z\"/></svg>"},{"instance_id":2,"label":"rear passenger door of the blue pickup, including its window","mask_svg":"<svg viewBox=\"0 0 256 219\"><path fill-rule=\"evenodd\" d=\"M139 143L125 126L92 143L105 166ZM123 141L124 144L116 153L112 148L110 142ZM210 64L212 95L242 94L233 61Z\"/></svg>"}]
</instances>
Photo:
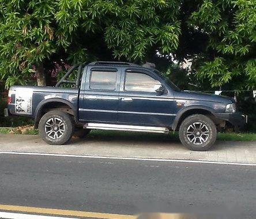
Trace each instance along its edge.
<instances>
[{"instance_id":1,"label":"rear passenger door of the blue pickup, including its window","mask_svg":"<svg viewBox=\"0 0 256 219\"><path fill-rule=\"evenodd\" d=\"M88 66L80 92L81 122L117 122L121 71L115 67Z\"/></svg>"}]
</instances>

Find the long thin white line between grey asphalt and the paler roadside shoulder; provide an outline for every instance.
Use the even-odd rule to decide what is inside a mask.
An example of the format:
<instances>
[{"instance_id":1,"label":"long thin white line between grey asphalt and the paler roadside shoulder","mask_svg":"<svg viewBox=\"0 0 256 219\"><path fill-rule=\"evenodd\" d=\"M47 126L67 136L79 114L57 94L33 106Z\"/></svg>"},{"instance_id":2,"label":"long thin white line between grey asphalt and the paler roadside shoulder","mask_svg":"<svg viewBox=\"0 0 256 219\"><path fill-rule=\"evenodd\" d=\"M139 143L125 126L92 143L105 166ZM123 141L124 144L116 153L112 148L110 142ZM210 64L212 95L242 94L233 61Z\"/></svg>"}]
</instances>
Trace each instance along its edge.
<instances>
[{"instance_id":1,"label":"long thin white line between grey asphalt and the paler roadside shoulder","mask_svg":"<svg viewBox=\"0 0 256 219\"><path fill-rule=\"evenodd\" d=\"M94 155L33 153L33 152L0 152L0 154L20 154L20 155L35 155L35 156L49 156L49 157L78 157L78 158L101 158L101 159L113 159L113 160L141 160L141 161L198 163L198 164L226 164L226 165L240 165L240 166L256 166L256 164L250 164L250 163L231 163L231 162L217 162L217 161L205 161L205 160L179 160L179 159L165 159L165 158L111 157L111 156L97 156L97 155L94 156Z\"/></svg>"}]
</instances>

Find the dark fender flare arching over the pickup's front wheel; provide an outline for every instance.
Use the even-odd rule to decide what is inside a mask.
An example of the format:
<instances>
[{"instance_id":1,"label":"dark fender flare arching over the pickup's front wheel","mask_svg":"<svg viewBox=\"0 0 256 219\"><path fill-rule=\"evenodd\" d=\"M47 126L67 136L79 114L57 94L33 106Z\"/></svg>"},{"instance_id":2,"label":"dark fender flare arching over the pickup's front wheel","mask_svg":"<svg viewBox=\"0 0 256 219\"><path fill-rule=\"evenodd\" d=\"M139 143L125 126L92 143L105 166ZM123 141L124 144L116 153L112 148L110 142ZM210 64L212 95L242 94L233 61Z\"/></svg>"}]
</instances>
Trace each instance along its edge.
<instances>
[{"instance_id":1,"label":"dark fender flare arching over the pickup's front wheel","mask_svg":"<svg viewBox=\"0 0 256 219\"><path fill-rule=\"evenodd\" d=\"M184 119L186 119L190 115L194 114L202 114L202 115L208 115L210 119L213 120L214 123L216 123L216 118L213 115L214 111L212 108L201 106L201 105L193 105L190 107L186 107L183 110L180 110L178 114L176 115L174 122L172 123L172 130L178 130L180 124Z\"/></svg>"}]
</instances>

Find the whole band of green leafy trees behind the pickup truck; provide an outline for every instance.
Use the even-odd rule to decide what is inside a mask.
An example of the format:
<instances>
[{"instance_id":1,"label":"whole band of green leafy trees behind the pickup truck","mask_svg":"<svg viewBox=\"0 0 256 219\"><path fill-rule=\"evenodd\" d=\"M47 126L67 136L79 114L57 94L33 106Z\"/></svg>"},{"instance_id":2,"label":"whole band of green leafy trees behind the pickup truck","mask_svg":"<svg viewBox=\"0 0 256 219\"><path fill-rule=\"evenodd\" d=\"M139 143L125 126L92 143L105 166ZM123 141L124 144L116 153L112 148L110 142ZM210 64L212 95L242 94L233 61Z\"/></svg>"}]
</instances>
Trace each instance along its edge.
<instances>
[{"instance_id":1,"label":"whole band of green leafy trees behind the pickup truck","mask_svg":"<svg viewBox=\"0 0 256 219\"><path fill-rule=\"evenodd\" d=\"M255 0L2 0L0 78L27 84L37 66L92 59L166 70L174 58L192 59L204 86L254 89L255 24Z\"/></svg>"}]
</instances>

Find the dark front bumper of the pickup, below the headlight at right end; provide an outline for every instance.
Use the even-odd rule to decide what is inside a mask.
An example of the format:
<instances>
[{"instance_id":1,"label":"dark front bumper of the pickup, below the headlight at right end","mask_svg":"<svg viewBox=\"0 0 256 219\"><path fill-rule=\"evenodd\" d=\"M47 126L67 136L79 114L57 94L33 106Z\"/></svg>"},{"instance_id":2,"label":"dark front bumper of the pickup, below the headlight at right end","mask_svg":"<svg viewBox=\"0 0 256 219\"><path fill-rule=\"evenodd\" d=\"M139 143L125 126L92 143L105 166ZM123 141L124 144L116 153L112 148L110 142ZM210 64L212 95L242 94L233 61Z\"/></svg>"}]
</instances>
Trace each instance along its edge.
<instances>
[{"instance_id":1,"label":"dark front bumper of the pickup, below the headlight at right end","mask_svg":"<svg viewBox=\"0 0 256 219\"><path fill-rule=\"evenodd\" d=\"M227 112L217 112L214 116L216 116L217 119L228 121L235 129L240 129L247 123L247 115L243 115L240 112L230 114Z\"/></svg>"}]
</instances>

